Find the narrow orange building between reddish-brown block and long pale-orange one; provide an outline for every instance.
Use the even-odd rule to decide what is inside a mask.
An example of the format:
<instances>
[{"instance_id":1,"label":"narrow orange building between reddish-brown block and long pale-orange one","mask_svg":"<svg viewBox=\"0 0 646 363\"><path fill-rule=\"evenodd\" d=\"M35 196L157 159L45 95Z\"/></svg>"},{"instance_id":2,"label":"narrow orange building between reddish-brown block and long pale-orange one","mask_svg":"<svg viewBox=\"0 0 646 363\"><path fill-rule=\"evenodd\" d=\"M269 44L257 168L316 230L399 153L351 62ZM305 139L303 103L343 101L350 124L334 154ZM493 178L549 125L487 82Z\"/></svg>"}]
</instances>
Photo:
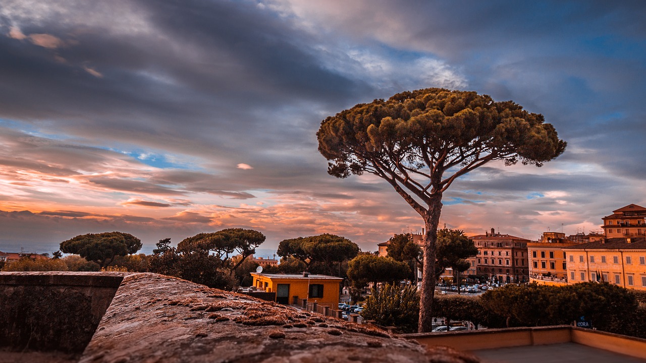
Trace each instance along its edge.
<instances>
[{"instance_id":1,"label":"narrow orange building between reddish-brown block and long pale-orange one","mask_svg":"<svg viewBox=\"0 0 646 363\"><path fill-rule=\"evenodd\" d=\"M563 248L578 244L559 232L545 232L539 242L528 243L530 282L567 285L567 258Z\"/></svg>"}]
</instances>

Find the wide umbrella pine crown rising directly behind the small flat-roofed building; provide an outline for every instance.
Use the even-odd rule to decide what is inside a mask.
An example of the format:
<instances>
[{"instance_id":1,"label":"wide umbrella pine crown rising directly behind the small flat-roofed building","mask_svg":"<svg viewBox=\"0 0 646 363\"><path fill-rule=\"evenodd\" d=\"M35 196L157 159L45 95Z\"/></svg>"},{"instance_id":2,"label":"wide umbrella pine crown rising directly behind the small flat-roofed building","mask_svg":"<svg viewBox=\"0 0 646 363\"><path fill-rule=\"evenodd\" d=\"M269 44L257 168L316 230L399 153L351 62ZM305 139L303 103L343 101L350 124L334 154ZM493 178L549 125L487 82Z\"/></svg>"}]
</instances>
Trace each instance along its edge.
<instances>
[{"instance_id":1,"label":"wide umbrella pine crown rising directly behind the small flat-roofed building","mask_svg":"<svg viewBox=\"0 0 646 363\"><path fill-rule=\"evenodd\" d=\"M282 256L283 259L291 257L299 260L311 273L340 277L345 277L343 276L346 271L343 268L344 264L358 253L357 244L347 238L329 233L282 240L278 244L277 251L278 256Z\"/></svg>"}]
</instances>

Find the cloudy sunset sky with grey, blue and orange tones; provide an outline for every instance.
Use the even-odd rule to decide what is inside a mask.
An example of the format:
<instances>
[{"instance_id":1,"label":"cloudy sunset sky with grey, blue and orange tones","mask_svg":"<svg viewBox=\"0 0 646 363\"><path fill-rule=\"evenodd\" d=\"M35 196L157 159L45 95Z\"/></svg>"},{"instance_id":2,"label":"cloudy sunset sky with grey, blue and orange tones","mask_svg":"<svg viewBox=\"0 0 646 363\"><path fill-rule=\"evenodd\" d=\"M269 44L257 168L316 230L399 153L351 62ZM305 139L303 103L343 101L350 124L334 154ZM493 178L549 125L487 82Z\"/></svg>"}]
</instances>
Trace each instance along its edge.
<instances>
[{"instance_id":1,"label":"cloudy sunset sky with grey, blue and orange tones","mask_svg":"<svg viewBox=\"0 0 646 363\"><path fill-rule=\"evenodd\" d=\"M404 90L473 90L545 116L543 167L488 163L441 227L537 240L646 205L644 1L3 0L0 251L121 231L151 253L235 227L376 251L421 217L337 179L320 122Z\"/></svg>"}]
</instances>

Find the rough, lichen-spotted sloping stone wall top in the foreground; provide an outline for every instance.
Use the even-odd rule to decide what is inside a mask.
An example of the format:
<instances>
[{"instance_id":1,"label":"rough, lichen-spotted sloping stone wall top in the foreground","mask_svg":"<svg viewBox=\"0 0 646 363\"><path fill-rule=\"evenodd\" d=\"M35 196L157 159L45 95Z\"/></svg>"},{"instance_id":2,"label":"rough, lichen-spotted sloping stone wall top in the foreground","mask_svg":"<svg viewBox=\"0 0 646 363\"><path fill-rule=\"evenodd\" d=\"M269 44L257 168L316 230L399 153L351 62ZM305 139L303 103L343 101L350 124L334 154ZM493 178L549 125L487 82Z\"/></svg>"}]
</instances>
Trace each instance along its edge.
<instances>
[{"instance_id":1,"label":"rough, lichen-spotted sloping stone wall top in the foreground","mask_svg":"<svg viewBox=\"0 0 646 363\"><path fill-rule=\"evenodd\" d=\"M155 274L124 278L80 361L477 362L451 351L432 358L379 329Z\"/></svg>"}]
</instances>

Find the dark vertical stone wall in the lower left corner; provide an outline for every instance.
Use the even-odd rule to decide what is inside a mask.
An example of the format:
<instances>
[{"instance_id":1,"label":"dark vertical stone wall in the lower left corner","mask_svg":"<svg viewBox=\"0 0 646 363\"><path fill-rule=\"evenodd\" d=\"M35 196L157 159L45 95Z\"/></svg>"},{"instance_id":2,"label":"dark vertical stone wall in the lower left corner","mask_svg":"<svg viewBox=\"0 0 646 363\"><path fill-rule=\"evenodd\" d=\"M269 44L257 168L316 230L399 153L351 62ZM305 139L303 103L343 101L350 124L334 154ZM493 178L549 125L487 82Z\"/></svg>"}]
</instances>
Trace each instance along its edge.
<instances>
[{"instance_id":1,"label":"dark vertical stone wall in the lower left corner","mask_svg":"<svg viewBox=\"0 0 646 363\"><path fill-rule=\"evenodd\" d=\"M0 347L81 353L123 274L1 273Z\"/></svg>"}]
</instances>

